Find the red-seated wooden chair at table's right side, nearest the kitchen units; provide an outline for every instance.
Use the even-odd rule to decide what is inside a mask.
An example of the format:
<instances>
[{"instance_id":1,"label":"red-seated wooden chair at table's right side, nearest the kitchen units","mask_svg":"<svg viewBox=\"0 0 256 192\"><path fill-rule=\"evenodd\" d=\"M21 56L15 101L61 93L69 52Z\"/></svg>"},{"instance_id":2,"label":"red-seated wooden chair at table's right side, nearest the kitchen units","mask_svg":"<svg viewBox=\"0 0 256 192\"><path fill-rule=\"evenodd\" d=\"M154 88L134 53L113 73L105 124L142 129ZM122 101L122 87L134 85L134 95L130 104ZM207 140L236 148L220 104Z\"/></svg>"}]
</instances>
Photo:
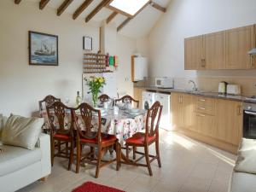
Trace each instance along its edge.
<instances>
[{"instance_id":1,"label":"red-seated wooden chair at table's right side, nearest the kitchen units","mask_svg":"<svg viewBox=\"0 0 256 192\"><path fill-rule=\"evenodd\" d=\"M126 158L129 158L127 151L129 150L129 146L135 149L135 154L141 154L142 156L139 157L137 160L131 160L129 162L122 162L134 166L147 166L149 175L152 176L152 169L150 163L153 160L158 161L158 166L161 167L160 161L160 149L159 149L159 124L160 124L160 117L162 113L162 106L160 102L154 102L153 106L148 109L147 118L146 118L146 129L145 133L137 132L132 137L126 139L125 147L126 147ZM156 154L148 154L148 147L151 144L155 144L155 151ZM144 148L144 153L139 152L136 150L137 147ZM135 157L135 155L134 155ZM139 160L142 160L143 157L146 159L147 164L138 163ZM149 158L152 158L149 160Z\"/></svg>"}]
</instances>

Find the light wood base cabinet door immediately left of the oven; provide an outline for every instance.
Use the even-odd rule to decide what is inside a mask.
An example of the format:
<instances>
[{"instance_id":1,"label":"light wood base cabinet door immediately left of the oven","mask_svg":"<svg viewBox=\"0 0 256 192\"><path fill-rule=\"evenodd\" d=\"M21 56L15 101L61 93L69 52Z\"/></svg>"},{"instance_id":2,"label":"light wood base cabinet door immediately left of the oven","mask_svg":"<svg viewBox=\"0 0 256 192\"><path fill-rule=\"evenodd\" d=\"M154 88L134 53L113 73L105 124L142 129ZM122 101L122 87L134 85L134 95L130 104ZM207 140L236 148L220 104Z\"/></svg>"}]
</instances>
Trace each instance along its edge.
<instances>
[{"instance_id":1,"label":"light wood base cabinet door immediately left of the oven","mask_svg":"<svg viewBox=\"0 0 256 192\"><path fill-rule=\"evenodd\" d=\"M238 145L242 135L242 103L218 99L216 101L216 138Z\"/></svg>"}]
</instances>

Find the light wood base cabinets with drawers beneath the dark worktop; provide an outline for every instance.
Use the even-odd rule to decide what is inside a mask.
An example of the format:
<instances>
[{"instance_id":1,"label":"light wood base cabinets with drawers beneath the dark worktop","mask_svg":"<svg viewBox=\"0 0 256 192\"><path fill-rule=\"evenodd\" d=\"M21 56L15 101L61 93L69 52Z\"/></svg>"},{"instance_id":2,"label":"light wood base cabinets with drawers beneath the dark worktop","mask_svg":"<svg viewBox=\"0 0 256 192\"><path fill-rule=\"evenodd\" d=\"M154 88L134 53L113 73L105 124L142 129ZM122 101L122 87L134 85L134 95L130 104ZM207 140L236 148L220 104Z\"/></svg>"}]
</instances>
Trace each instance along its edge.
<instances>
[{"instance_id":1,"label":"light wood base cabinets with drawers beneath the dark worktop","mask_svg":"<svg viewBox=\"0 0 256 192\"><path fill-rule=\"evenodd\" d=\"M172 125L185 135L236 153L242 135L242 103L172 93Z\"/></svg>"}]
</instances>

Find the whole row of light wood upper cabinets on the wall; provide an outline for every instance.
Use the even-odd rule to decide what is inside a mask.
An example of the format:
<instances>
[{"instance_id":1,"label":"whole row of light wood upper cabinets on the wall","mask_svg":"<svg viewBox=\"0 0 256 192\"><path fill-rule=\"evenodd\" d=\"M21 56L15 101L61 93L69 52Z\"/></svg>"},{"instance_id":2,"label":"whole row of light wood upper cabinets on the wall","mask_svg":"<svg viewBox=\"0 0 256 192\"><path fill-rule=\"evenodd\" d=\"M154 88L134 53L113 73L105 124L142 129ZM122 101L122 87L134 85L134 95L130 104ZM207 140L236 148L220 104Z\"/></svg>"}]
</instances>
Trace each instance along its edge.
<instances>
[{"instance_id":1,"label":"whole row of light wood upper cabinets on the wall","mask_svg":"<svg viewBox=\"0 0 256 192\"><path fill-rule=\"evenodd\" d=\"M185 70L251 69L255 59L248 51L256 47L256 26L243 26L184 39Z\"/></svg>"}]
</instances>

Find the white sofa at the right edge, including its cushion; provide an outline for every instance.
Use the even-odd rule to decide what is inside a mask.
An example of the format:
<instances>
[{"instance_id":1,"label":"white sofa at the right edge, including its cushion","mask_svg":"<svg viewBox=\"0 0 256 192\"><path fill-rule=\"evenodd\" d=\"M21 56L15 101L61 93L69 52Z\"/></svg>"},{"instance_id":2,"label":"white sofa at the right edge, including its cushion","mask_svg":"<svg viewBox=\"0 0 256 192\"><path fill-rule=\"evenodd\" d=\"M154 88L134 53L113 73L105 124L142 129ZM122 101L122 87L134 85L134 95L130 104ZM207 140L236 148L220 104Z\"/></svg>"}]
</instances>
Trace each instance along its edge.
<instances>
[{"instance_id":1,"label":"white sofa at the right edge, including its cushion","mask_svg":"<svg viewBox=\"0 0 256 192\"><path fill-rule=\"evenodd\" d=\"M236 166L230 177L229 192L256 191L256 140L243 138Z\"/></svg>"}]
</instances>

